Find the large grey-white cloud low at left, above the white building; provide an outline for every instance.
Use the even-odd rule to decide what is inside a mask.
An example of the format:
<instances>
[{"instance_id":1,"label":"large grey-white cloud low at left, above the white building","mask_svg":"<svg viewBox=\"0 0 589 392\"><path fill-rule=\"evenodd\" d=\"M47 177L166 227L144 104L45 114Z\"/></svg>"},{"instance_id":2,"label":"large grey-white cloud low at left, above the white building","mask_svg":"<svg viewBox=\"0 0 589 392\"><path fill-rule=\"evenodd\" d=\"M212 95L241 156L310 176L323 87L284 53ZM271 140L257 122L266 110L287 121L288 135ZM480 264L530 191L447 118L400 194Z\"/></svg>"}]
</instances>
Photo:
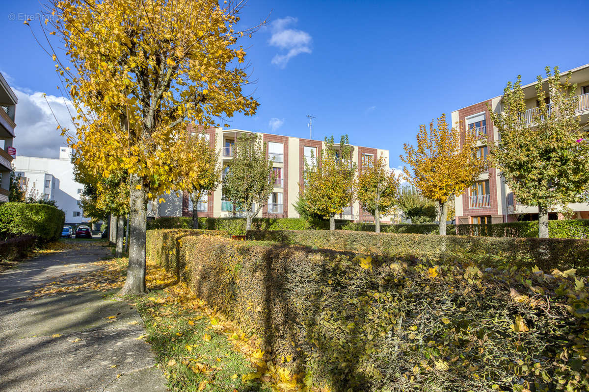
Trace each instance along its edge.
<instances>
[{"instance_id":1,"label":"large grey-white cloud low at left, above the white building","mask_svg":"<svg viewBox=\"0 0 589 392\"><path fill-rule=\"evenodd\" d=\"M70 106L72 113L75 113L71 102L64 102L62 97L55 95L47 95L45 100L41 92L13 90L18 97L14 121L16 153L24 156L58 158L59 147L65 146L65 137L57 130L58 122L62 127L74 132L74 125L66 106Z\"/></svg>"}]
</instances>

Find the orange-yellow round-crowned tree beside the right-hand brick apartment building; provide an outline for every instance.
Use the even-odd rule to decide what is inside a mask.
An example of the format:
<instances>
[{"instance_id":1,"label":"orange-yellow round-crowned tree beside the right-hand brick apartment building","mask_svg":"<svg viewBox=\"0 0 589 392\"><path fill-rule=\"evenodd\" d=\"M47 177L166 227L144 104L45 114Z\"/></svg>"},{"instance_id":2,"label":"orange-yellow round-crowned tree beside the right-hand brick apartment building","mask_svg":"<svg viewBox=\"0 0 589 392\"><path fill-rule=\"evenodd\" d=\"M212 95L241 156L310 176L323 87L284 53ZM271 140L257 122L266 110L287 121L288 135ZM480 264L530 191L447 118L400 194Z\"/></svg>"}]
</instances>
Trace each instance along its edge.
<instances>
[{"instance_id":1,"label":"orange-yellow round-crowned tree beside the right-hand brick apartment building","mask_svg":"<svg viewBox=\"0 0 589 392\"><path fill-rule=\"evenodd\" d=\"M477 158L475 141L459 129L448 129L446 115L438 118L438 128L429 123L419 128L417 147L403 145L401 160L411 166L403 167L406 179L419 193L438 205L440 235L446 234L448 203L477 179L483 162Z\"/></svg>"}]
</instances>

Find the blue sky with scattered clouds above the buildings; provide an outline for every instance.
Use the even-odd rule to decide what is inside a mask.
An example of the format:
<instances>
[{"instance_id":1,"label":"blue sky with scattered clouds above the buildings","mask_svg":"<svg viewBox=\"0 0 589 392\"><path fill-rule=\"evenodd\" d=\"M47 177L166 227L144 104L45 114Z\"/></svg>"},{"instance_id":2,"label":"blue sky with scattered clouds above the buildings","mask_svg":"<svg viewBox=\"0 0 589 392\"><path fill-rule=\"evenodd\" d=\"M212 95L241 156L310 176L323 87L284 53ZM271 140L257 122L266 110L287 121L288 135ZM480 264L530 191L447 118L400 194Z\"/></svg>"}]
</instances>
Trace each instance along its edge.
<instances>
[{"instance_id":1,"label":"blue sky with scattered clouds above the buildings","mask_svg":"<svg viewBox=\"0 0 589 392\"><path fill-rule=\"evenodd\" d=\"M589 2L555 4L250 0L244 25L270 14L269 24L243 41L257 80L247 89L261 105L230 126L308 138L310 113L314 139L347 133L353 144L389 149L397 167L419 125L500 95L520 73L527 83L545 65L564 71L589 62ZM23 102L15 145L19 154L57 155L61 139L51 133L55 123L40 93L59 106L58 79L19 20L39 3L2 5L0 71ZM35 113L45 119L39 123Z\"/></svg>"}]
</instances>

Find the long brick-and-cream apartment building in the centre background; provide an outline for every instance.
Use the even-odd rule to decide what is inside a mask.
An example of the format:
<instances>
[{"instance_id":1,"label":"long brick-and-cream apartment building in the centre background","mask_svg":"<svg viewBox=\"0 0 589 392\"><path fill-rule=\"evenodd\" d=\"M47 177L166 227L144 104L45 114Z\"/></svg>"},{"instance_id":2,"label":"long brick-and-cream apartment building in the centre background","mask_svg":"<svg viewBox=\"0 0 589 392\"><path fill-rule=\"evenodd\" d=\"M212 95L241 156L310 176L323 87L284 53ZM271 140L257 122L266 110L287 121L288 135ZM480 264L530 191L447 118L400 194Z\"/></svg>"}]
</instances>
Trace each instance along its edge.
<instances>
[{"instance_id":1,"label":"long brick-and-cream apartment building in the centre background","mask_svg":"<svg viewBox=\"0 0 589 392\"><path fill-rule=\"evenodd\" d=\"M272 160L276 181L267 205L262 207L258 217L299 217L299 213L293 207L293 203L299 197L299 183L303 183L305 172L305 159L311 165L321 155L325 148L325 142L320 140L293 138L290 136L273 135L270 133L251 132L241 129L209 128L204 130L210 140L211 148L220 150L220 160L223 166L233 159L233 146L241 135L257 136L266 146L266 155ZM216 140L216 145L214 144ZM358 165L358 170L372 165L375 158L382 155L387 163L389 151L363 146L352 146L352 160ZM337 148L337 146L336 146ZM223 177L228 170L225 169ZM175 193L164 195L164 203L150 202L148 215L151 216L192 216L193 206L187 193L177 196ZM237 212L229 200L223 197L222 187L203 197L197 205L198 216L202 217L231 217L243 216ZM343 210L337 219L348 219L357 222L372 222L374 217L360 208L356 201ZM394 217L383 217L383 223L389 223Z\"/></svg>"}]
</instances>

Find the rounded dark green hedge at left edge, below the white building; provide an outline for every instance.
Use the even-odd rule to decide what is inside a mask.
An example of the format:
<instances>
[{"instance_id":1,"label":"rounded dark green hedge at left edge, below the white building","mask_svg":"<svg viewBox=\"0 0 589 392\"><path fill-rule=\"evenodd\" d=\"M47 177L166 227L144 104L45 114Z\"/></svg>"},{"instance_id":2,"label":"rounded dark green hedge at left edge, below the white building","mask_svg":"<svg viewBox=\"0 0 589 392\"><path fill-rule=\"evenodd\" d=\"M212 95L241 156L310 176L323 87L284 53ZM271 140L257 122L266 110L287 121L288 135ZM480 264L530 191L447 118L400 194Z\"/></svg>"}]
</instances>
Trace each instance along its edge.
<instances>
[{"instance_id":1,"label":"rounded dark green hedge at left edge, below the white building","mask_svg":"<svg viewBox=\"0 0 589 392\"><path fill-rule=\"evenodd\" d=\"M46 204L4 203L0 205L0 233L28 234L42 242L57 240L64 226L62 210Z\"/></svg>"}]
</instances>

